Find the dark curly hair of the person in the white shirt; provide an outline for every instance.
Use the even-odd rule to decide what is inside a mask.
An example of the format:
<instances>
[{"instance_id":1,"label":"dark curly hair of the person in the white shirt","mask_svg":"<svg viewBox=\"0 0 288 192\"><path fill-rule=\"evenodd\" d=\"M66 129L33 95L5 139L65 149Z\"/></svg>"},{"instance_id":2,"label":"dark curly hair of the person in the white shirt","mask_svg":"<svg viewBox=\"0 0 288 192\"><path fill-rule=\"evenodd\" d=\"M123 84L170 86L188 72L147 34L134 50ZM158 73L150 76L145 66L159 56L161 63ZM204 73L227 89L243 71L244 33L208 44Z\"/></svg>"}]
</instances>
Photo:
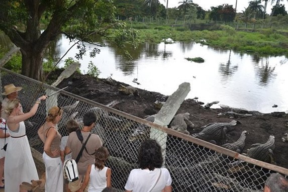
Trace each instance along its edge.
<instances>
[{"instance_id":1,"label":"dark curly hair of the person in the white shirt","mask_svg":"<svg viewBox=\"0 0 288 192\"><path fill-rule=\"evenodd\" d=\"M153 139L144 141L140 146L138 161L141 169L161 168L163 163L161 146Z\"/></svg>"}]
</instances>

